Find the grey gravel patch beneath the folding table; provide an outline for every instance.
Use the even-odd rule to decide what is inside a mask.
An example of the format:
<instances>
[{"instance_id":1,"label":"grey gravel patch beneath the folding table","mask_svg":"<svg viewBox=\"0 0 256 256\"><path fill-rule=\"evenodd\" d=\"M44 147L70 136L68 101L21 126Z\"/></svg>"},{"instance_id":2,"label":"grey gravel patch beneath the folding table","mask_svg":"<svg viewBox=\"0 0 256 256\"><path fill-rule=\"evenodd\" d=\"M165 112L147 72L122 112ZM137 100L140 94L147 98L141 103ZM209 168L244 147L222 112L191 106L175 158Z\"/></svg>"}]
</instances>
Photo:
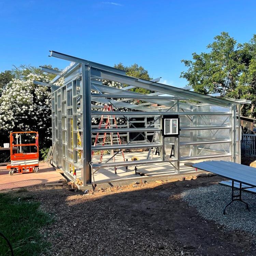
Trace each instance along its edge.
<instances>
[{"instance_id":1,"label":"grey gravel patch beneath the folding table","mask_svg":"<svg viewBox=\"0 0 256 256\"><path fill-rule=\"evenodd\" d=\"M239 191L235 190L234 194ZM245 204L239 201L233 202L226 209L225 205L231 200L231 188L222 185L198 187L182 193L183 199L189 206L196 207L199 215L225 226L228 230L244 230L256 233L256 194L242 192L242 200L247 202L250 211L246 210Z\"/></svg>"}]
</instances>

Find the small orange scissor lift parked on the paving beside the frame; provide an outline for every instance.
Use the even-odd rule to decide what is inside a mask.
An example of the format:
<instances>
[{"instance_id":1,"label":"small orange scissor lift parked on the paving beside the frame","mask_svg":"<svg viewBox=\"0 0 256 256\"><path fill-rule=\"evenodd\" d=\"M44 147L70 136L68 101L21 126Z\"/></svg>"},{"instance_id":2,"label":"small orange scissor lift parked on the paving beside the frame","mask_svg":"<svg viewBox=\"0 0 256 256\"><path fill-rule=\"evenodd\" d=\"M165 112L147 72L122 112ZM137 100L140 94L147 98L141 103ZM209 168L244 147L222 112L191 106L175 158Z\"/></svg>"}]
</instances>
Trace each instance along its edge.
<instances>
[{"instance_id":1,"label":"small orange scissor lift parked on the paving beside the frame","mask_svg":"<svg viewBox=\"0 0 256 256\"><path fill-rule=\"evenodd\" d=\"M16 143L15 138L21 136L21 134L34 133L34 143ZM14 136L16 137L14 138ZM31 134L33 135L33 134ZM18 141L18 139L17 139ZM34 152L23 153L22 147L31 147ZM10 151L11 151L11 164L7 165L7 170L10 170L9 174L13 175L14 172L18 173L31 173L39 172L39 148L38 148L38 132L37 131L19 131L10 133Z\"/></svg>"}]
</instances>

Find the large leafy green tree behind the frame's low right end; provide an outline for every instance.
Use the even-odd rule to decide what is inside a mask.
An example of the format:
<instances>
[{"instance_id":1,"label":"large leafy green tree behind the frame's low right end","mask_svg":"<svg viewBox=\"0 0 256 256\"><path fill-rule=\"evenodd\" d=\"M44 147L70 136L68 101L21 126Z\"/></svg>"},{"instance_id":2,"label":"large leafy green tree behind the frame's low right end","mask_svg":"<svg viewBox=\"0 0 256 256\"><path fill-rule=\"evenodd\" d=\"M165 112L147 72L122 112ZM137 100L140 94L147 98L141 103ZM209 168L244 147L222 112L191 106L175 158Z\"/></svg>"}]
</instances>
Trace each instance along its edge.
<instances>
[{"instance_id":1,"label":"large leafy green tree behind the frame's low right end","mask_svg":"<svg viewBox=\"0 0 256 256\"><path fill-rule=\"evenodd\" d=\"M222 32L207 49L206 53L193 53L192 60L182 60L187 71L181 77L198 93L252 100L252 105L242 105L241 111L255 117L256 35L242 44Z\"/></svg>"}]
</instances>

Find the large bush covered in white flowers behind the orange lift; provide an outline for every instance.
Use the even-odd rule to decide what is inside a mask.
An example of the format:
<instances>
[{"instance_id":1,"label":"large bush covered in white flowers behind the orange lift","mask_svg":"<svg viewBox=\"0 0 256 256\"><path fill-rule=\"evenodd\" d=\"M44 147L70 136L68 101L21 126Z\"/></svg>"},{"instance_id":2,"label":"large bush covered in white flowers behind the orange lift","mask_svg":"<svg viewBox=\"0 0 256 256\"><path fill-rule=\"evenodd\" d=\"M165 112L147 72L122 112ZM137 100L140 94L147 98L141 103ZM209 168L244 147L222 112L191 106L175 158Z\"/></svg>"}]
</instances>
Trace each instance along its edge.
<instances>
[{"instance_id":1,"label":"large bush covered in white flowers behind the orange lift","mask_svg":"<svg viewBox=\"0 0 256 256\"><path fill-rule=\"evenodd\" d=\"M52 137L51 90L34 85L33 80L49 82L47 75L29 74L26 81L12 79L3 89L0 97L0 133L8 136L12 131L38 131L40 147L43 147Z\"/></svg>"}]
</instances>

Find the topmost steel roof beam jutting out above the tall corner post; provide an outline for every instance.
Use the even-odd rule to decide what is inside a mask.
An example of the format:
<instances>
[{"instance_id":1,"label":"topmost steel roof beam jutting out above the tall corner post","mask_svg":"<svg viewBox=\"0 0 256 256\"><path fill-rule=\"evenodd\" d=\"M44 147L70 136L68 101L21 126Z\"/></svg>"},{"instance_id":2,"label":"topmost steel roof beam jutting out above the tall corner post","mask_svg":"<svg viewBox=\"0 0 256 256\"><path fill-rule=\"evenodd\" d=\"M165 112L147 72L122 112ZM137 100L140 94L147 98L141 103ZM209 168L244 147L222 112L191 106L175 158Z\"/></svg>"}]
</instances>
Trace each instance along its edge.
<instances>
[{"instance_id":1,"label":"topmost steel roof beam jutting out above the tall corner post","mask_svg":"<svg viewBox=\"0 0 256 256\"><path fill-rule=\"evenodd\" d=\"M55 58L59 58L59 59L73 61L73 62L76 62L76 63L85 63L86 65L91 66L93 68L99 68L99 69L103 69L103 70L106 70L106 71L115 72L115 73L121 74L121 75L126 74L126 71L124 71L124 70L112 68L110 66L102 65L102 64L97 63L97 62L77 58L77 57L74 57L74 56L71 56L71 55L67 55L67 54L63 54L63 53L59 53L59 52L55 52L55 51L49 51L49 52L51 53L49 55L49 57L55 57Z\"/></svg>"}]
</instances>

